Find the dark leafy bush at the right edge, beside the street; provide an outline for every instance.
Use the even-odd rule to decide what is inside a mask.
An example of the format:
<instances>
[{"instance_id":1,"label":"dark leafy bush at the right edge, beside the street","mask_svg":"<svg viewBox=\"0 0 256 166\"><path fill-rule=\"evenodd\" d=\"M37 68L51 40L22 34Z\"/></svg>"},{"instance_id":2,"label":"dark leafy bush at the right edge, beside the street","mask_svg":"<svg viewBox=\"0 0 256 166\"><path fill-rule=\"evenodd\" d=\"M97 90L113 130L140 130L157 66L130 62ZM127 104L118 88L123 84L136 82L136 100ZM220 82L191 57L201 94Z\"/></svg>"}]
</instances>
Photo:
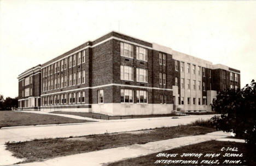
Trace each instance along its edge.
<instances>
[{"instance_id":1,"label":"dark leafy bush at the right edge, beside the street","mask_svg":"<svg viewBox=\"0 0 256 166\"><path fill-rule=\"evenodd\" d=\"M245 138L246 143L256 144L256 82L252 80L242 90L226 89L213 100L212 110L222 114L212 117L217 129L233 132Z\"/></svg>"}]
</instances>

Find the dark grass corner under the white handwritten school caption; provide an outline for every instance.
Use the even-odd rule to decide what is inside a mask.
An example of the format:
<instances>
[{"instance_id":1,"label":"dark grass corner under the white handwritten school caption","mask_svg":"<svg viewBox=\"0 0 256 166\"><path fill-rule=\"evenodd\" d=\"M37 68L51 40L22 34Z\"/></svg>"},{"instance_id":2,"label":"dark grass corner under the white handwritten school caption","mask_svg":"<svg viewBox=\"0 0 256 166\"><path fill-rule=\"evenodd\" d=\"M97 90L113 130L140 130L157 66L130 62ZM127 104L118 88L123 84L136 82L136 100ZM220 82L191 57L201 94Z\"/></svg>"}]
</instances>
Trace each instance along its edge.
<instances>
[{"instance_id":1,"label":"dark grass corner under the white handwritten school caption","mask_svg":"<svg viewBox=\"0 0 256 166\"><path fill-rule=\"evenodd\" d=\"M237 148L238 151L221 151L221 149L225 147L227 149L228 147L235 147ZM235 150L235 149L234 149ZM178 154L176 157L160 157L160 153L168 153L168 154ZM230 166L235 166L235 165L250 165L254 166L256 165L256 157L255 157L255 151L253 152L252 150L249 149L247 144L245 143L235 143L235 142L226 142L226 141L207 141L204 143L200 144L194 144L194 145L188 145L188 146L183 146L179 147L177 149L172 149L160 153L154 153L152 155L147 155L147 156L141 156L137 158L131 158L131 159L126 159L124 161L119 161L115 163L110 163L108 166L124 166L124 165L188 165L188 164L171 164L171 163L155 163L158 160L186 160L186 161L191 161L195 160L198 161L197 165L230 165ZM183 153L202 153L203 155L198 158L198 157L181 157ZM220 153L219 157L205 157L206 153ZM243 157L223 157L225 153L236 153L236 154L241 154ZM158 156L157 156L158 155ZM212 160L216 161L218 160L219 164L206 164L206 163L201 163L203 160ZM242 163L238 164L230 164L230 163L223 163L225 160L229 161L238 161L240 160ZM190 164L190 165L196 165L196 164Z\"/></svg>"}]
</instances>

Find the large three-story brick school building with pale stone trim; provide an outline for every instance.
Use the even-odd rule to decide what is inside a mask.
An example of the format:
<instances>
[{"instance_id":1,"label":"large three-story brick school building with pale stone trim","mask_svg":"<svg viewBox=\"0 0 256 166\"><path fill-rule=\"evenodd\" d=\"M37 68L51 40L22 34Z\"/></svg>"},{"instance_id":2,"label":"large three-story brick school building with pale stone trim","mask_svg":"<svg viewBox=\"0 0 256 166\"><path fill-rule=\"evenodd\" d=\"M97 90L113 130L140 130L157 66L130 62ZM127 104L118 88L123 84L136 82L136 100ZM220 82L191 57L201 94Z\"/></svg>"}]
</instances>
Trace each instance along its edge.
<instances>
[{"instance_id":1,"label":"large three-story brick school building with pale stone trim","mask_svg":"<svg viewBox=\"0 0 256 166\"><path fill-rule=\"evenodd\" d=\"M127 47L130 49L126 50ZM121 51L126 51L124 54L131 57L121 56ZM165 57L165 64L160 64L160 54ZM146 59L138 60L138 56ZM191 68L192 65L195 65L196 69L199 66L205 68L205 76L181 72L181 62L185 64L185 70L187 63ZM121 79L121 67L125 70L122 74L129 79ZM110 32L42 64L40 73L33 76L33 84L22 86L22 79L30 75L21 74L19 99L22 102L22 99L27 98L22 97L22 91L30 87L33 89L31 97L40 97L40 110L85 111L108 115L170 114L178 108L185 111L208 110L210 103L202 105L202 100L209 96L212 99L212 91L222 90L223 69L226 69L226 86L234 85L240 88L240 74L238 81L231 81L228 78L230 72L240 73L236 69L214 66L210 62L165 46ZM147 81L139 81L138 78ZM185 88L181 87L181 79L184 79ZM190 84L188 80L191 81ZM201 90L191 89L194 80L196 87L197 82L201 82ZM203 82L205 91L202 90ZM103 90L102 103L98 101L101 100L100 90ZM124 96L121 93L124 93ZM137 97L137 93L141 96ZM193 105L195 97L197 102ZM181 99L184 99L184 104ZM23 105L20 107L24 108Z\"/></svg>"}]
</instances>

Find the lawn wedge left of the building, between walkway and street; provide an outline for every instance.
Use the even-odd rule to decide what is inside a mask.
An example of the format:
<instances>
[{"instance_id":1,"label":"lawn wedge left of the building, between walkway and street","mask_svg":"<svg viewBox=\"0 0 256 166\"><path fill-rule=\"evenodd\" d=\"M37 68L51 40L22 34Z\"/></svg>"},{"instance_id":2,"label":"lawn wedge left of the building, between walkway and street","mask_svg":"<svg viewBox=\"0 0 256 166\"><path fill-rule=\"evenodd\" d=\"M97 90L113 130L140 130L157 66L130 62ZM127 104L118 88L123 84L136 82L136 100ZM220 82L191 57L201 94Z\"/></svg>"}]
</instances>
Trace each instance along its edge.
<instances>
[{"instance_id":1,"label":"lawn wedge left of the building, between walkway and street","mask_svg":"<svg viewBox=\"0 0 256 166\"><path fill-rule=\"evenodd\" d=\"M9 126L26 126L36 124L57 124L57 123L80 123L93 122L87 120L77 120L74 118L43 115L28 112L0 111L0 128Z\"/></svg>"}]
</instances>

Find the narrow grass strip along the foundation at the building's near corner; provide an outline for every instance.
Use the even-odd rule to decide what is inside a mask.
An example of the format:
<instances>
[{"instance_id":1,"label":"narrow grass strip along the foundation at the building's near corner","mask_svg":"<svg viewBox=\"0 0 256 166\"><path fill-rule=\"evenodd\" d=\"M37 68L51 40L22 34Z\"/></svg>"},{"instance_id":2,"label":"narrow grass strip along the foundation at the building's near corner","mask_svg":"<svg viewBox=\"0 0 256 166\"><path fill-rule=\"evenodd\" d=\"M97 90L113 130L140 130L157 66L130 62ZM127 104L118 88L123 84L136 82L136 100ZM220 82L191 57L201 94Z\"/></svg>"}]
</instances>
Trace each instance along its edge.
<instances>
[{"instance_id":1,"label":"narrow grass strip along the foundation at the building's near corner","mask_svg":"<svg viewBox=\"0 0 256 166\"><path fill-rule=\"evenodd\" d=\"M176 114L163 114L163 115L127 115L127 116L108 116L96 113L86 113L86 112L66 112L66 111L53 111L53 114L68 114L68 115L78 115L90 118L101 118L104 120L117 120L117 119L127 119L127 118L147 118L147 117L166 117L166 116L181 116Z\"/></svg>"}]
</instances>

